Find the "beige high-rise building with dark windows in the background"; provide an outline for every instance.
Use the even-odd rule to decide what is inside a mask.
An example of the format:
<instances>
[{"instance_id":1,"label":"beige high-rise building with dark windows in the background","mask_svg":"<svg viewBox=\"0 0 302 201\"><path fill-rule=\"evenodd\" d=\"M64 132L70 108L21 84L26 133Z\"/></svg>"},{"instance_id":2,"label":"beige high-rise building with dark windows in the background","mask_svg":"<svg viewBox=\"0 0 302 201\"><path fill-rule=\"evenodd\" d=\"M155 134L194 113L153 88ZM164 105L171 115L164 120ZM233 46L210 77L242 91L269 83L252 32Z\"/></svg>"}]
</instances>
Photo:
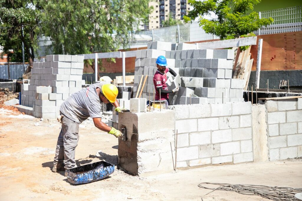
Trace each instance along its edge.
<instances>
[{"instance_id":1,"label":"beige high-rise building with dark windows in the background","mask_svg":"<svg viewBox=\"0 0 302 201\"><path fill-rule=\"evenodd\" d=\"M174 19L182 20L190 10L187 0L153 0L149 2L151 6L153 11L149 14L149 29L162 27L162 21L167 20L170 13Z\"/></svg>"}]
</instances>

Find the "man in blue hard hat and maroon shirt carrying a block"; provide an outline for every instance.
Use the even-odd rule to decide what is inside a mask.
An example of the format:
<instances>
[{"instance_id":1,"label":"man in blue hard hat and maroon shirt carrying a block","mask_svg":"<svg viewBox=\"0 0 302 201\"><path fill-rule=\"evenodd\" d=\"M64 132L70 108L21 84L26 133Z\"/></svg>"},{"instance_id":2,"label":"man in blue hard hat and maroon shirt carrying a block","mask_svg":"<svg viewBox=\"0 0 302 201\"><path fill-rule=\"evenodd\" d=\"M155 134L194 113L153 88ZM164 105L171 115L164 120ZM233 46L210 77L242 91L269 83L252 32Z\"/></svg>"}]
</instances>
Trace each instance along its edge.
<instances>
[{"instance_id":1,"label":"man in blue hard hat and maroon shirt carrying a block","mask_svg":"<svg viewBox=\"0 0 302 201\"><path fill-rule=\"evenodd\" d=\"M178 91L178 87L176 87L173 90L168 90L168 87L166 85L167 81L167 72L170 72L173 76L176 76L177 74L175 71L173 71L171 68L167 67L167 59L165 56L159 56L156 59L156 66L157 71L153 76L153 83L155 86L155 100L165 100L167 101L168 105L169 102L169 93L174 93ZM159 95L160 94L160 95Z\"/></svg>"}]
</instances>

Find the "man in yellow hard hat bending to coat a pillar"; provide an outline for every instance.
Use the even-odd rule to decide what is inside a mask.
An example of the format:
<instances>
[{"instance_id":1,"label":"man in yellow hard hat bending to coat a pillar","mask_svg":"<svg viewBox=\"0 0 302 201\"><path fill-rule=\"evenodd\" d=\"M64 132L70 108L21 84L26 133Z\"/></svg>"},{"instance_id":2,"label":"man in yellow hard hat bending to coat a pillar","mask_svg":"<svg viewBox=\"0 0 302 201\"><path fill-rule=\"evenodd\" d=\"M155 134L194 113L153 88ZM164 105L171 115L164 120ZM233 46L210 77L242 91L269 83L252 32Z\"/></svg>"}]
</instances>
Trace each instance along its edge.
<instances>
[{"instance_id":1,"label":"man in yellow hard hat bending to coat a pillar","mask_svg":"<svg viewBox=\"0 0 302 201\"><path fill-rule=\"evenodd\" d=\"M56 145L56 155L53 161L53 172L76 168L75 148L79 141L79 125L88 117L91 117L95 127L108 132L115 137L121 137L122 133L101 121L101 103L111 103L119 113L129 110L121 108L116 100L117 87L105 82L96 83L83 88L70 95L60 106L58 121L62 123L62 129ZM65 172L65 176L67 176Z\"/></svg>"}]
</instances>

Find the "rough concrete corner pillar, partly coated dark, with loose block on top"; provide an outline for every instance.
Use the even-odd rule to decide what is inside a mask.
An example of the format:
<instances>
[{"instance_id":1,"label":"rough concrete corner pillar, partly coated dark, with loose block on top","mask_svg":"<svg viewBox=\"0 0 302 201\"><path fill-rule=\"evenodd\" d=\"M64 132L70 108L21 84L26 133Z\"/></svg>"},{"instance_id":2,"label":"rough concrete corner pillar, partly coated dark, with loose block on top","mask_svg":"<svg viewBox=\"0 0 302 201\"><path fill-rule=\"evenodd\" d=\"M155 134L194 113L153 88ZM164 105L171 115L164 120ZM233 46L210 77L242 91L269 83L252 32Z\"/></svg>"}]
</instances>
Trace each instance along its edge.
<instances>
[{"instance_id":1,"label":"rough concrete corner pillar, partly coated dark, with loose block on top","mask_svg":"<svg viewBox=\"0 0 302 201\"><path fill-rule=\"evenodd\" d=\"M174 111L146 112L145 98L130 99L130 111L119 114L119 129L127 129L127 140L118 139L120 169L142 177L173 171ZM159 122L165 126L152 129Z\"/></svg>"}]
</instances>

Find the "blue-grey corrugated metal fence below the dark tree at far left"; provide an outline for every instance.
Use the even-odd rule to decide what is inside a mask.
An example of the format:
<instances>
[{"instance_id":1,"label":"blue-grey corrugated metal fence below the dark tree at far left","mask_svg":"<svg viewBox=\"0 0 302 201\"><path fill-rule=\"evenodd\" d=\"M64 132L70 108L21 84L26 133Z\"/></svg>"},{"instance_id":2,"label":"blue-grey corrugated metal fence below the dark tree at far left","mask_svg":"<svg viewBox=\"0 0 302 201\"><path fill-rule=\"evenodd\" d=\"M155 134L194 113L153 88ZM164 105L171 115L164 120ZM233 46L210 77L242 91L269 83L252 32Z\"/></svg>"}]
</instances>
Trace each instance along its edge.
<instances>
[{"instance_id":1,"label":"blue-grey corrugated metal fence below the dark tree at far left","mask_svg":"<svg viewBox=\"0 0 302 201\"><path fill-rule=\"evenodd\" d=\"M25 64L25 69L28 64ZM0 65L0 79L21 79L24 73L23 64L9 64L9 74L8 65Z\"/></svg>"}]
</instances>

